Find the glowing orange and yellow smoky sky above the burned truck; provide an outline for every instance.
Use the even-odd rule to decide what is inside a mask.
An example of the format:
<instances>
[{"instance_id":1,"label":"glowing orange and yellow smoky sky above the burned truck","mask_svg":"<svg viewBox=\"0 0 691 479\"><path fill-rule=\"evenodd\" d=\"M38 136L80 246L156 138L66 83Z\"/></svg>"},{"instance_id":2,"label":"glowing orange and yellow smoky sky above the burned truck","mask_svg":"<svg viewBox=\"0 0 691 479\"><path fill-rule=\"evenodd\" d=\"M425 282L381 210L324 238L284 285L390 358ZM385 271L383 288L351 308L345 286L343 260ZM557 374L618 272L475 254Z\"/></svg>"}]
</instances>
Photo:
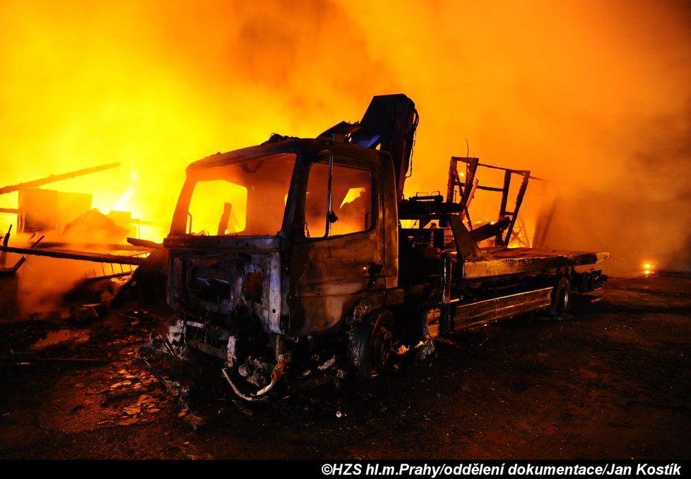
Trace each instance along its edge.
<instances>
[{"instance_id":1,"label":"glowing orange and yellow smoky sky above the burned truck","mask_svg":"<svg viewBox=\"0 0 691 479\"><path fill-rule=\"evenodd\" d=\"M47 187L165 230L189 162L406 93L406 194L467 139L557 182L550 246L691 269L687 1L4 0L0 69L0 186L121 162Z\"/></svg>"}]
</instances>

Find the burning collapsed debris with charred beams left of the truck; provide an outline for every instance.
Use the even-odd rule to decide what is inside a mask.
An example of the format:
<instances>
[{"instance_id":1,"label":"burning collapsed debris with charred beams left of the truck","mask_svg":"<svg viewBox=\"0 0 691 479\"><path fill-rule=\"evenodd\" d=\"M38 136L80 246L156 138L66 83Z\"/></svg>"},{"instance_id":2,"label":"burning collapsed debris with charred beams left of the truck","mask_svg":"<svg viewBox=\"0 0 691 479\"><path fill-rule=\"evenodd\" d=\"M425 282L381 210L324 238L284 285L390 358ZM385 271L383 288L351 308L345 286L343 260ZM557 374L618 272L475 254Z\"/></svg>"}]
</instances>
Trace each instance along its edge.
<instances>
[{"instance_id":1,"label":"burning collapsed debris with charred beams left of the truck","mask_svg":"<svg viewBox=\"0 0 691 479\"><path fill-rule=\"evenodd\" d=\"M39 188L118 166L119 163L112 163L0 188L0 194L18 191L18 207L2 208L0 211L16 214L17 228L13 244L9 241L13 226L10 225L0 247L0 297L8 304L4 310L11 314L10 317L18 314L20 309L20 282L14 277L28 258L32 258L30 263L33 261L34 268L36 261L40 261L38 257L79 262L78 269L76 264L64 264L66 271L82 271L81 278L74 279L76 286L70 289L65 281L66 276L61 275L52 288L61 290L65 300L72 300L78 295L90 297L91 302L71 306L74 321L103 317L112 302L122 304L123 297L132 294L140 299L146 298L149 304L155 300L160 303L165 301L165 270L162 268L165 268L166 261L160 244L131 238L137 231L135 225L142 223L140 220L133 220L131 213L126 211L111 211L107 215L101 213L91 207L90 194ZM150 252L154 249L159 249L159 252L152 256ZM16 255L20 255L16 262L6 266L8 258ZM83 266L85 264L93 266ZM146 266L138 268L143 264ZM147 276L149 273L152 275L150 279ZM25 276L35 279L35 275ZM43 275L49 276L50 271ZM129 280L124 282L123 278Z\"/></svg>"}]
</instances>

